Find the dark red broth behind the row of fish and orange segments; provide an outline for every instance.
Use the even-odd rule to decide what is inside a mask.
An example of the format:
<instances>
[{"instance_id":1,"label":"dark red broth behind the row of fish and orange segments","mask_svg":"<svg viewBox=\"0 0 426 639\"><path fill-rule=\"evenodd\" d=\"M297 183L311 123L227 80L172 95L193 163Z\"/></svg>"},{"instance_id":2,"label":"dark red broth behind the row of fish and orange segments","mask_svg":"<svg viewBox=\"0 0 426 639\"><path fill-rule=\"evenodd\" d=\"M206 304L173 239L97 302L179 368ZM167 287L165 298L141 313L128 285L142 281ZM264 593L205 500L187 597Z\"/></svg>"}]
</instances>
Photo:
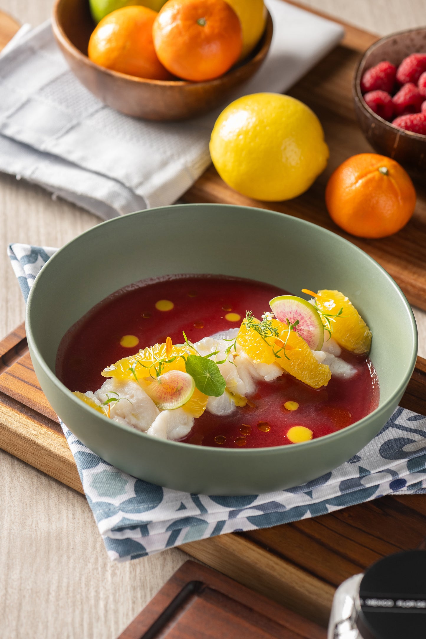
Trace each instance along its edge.
<instances>
[{"instance_id":1,"label":"dark red broth behind the row of fish and orange segments","mask_svg":"<svg viewBox=\"0 0 426 639\"><path fill-rule=\"evenodd\" d=\"M70 328L59 345L57 376L70 390L98 390L105 381L101 371L140 348L162 344L166 337L182 344L183 331L197 342L240 327L246 311L260 318L270 310L273 297L286 293L271 284L220 275L137 282L107 297ZM174 308L158 311L155 304L159 300L170 300ZM240 321L227 321L228 312L238 313ZM139 344L124 348L120 344L123 335L135 335Z\"/></svg>"}]
</instances>

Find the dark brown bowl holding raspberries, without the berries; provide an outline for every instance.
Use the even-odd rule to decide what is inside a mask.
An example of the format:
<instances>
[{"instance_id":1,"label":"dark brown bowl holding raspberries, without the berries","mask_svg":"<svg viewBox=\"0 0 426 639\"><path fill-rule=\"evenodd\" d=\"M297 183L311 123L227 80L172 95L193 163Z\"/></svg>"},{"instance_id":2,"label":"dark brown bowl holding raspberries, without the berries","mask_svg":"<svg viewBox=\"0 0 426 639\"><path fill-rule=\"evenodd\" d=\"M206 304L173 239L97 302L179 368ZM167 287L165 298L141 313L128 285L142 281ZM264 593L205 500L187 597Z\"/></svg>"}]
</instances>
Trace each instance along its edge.
<instances>
[{"instance_id":1,"label":"dark brown bowl holding raspberries, without the berries","mask_svg":"<svg viewBox=\"0 0 426 639\"><path fill-rule=\"evenodd\" d=\"M388 155L407 167L426 169L426 135L404 131L380 118L365 104L361 92L364 71L383 60L398 66L411 53L426 51L426 29L407 29L381 38L363 55L353 80L356 117L363 134L377 153Z\"/></svg>"}]
</instances>

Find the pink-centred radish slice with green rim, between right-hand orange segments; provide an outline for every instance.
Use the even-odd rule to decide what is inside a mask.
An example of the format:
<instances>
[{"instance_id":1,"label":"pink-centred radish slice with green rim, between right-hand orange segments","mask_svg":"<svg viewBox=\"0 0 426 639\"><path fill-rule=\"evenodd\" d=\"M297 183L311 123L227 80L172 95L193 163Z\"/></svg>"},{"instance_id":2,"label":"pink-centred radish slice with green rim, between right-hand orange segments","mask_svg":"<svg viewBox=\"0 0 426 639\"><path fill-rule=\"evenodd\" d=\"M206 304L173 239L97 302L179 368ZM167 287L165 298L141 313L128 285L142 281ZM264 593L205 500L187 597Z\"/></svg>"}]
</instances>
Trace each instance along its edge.
<instances>
[{"instance_id":1,"label":"pink-centred radish slice with green rim, between right-hand orange segments","mask_svg":"<svg viewBox=\"0 0 426 639\"><path fill-rule=\"evenodd\" d=\"M279 321L291 324L298 319L296 327L309 348L320 351L324 343L324 327L317 309L306 300L296 295L278 295L270 301L270 307Z\"/></svg>"}]
</instances>

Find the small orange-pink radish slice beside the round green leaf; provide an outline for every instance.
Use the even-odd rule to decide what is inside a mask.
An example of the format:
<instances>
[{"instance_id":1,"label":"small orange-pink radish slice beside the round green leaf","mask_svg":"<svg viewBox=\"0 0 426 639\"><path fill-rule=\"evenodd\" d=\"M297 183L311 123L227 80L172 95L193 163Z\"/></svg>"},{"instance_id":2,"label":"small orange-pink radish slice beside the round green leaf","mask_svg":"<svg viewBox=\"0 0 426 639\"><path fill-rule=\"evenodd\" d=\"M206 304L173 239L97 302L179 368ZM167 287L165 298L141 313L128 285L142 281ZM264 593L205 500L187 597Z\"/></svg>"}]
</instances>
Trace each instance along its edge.
<instances>
[{"instance_id":1,"label":"small orange-pink radish slice beside the round green leaf","mask_svg":"<svg viewBox=\"0 0 426 639\"><path fill-rule=\"evenodd\" d=\"M160 410L174 410L186 404L195 390L195 381L183 371L167 371L144 389Z\"/></svg>"}]
</instances>

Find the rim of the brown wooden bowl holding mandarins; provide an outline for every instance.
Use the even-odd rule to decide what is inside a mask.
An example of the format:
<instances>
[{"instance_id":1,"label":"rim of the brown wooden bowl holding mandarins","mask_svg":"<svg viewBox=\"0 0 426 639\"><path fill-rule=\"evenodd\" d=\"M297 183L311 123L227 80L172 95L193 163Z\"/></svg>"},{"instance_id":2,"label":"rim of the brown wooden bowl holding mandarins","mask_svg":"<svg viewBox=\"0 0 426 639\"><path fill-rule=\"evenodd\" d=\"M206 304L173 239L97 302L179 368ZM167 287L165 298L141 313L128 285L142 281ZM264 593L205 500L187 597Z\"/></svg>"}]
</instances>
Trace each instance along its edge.
<instances>
[{"instance_id":1,"label":"rim of the brown wooden bowl holding mandarins","mask_svg":"<svg viewBox=\"0 0 426 639\"><path fill-rule=\"evenodd\" d=\"M197 86L197 87L211 87L215 86L215 84L222 84L224 77L232 76L234 73L238 72L243 66L257 63L258 61L262 61L266 58L268 51L271 46L271 40L273 36L273 20L268 8L266 8L266 22L265 28L259 39L259 42L256 46L261 45L259 50L252 58L246 58L241 61L241 64L238 66L232 66L226 73L223 73L217 78L213 78L213 80L206 80L202 82L192 82L190 80L153 80L150 78L141 78L137 77L137 75L128 75L128 73L121 73L119 71L114 71L112 69L108 69L105 66L96 65L91 59L86 56L84 53L77 49L77 47L71 42L70 38L66 35L63 27L57 20L57 12L58 7L61 2L64 0L56 0L52 7L52 31L56 39L68 50L68 52L73 56L73 58L78 58L84 65L89 66L100 73L105 73L105 75L109 75L110 77L135 82L136 84L151 84L153 86L167 86L167 87L185 87L185 86ZM262 42L264 41L264 42ZM248 54L250 55L250 54Z\"/></svg>"}]
</instances>

